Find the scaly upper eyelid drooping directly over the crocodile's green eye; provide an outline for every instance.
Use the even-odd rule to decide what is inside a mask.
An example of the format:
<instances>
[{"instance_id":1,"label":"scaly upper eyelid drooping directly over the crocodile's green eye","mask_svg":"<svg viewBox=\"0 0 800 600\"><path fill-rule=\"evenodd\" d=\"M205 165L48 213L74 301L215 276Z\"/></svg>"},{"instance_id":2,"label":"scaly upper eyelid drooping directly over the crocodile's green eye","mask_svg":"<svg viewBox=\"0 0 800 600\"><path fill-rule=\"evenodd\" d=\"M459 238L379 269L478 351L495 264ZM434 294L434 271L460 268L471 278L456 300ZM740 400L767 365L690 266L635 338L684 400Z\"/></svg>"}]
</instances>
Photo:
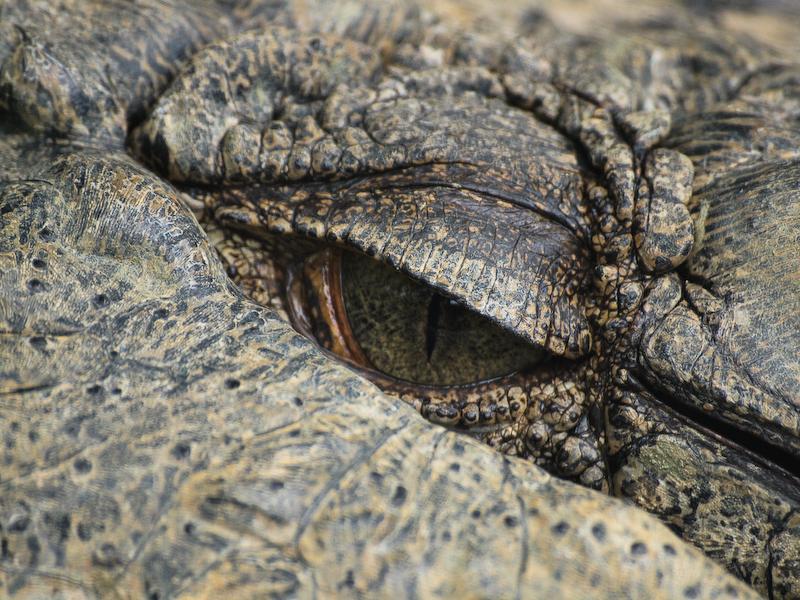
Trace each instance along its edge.
<instances>
[{"instance_id":1,"label":"scaly upper eyelid drooping directly over the crocodile's green eye","mask_svg":"<svg viewBox=\"0 0 800 600\"><path fill-rule=\"evenodd\" d=\"M271 201L263 189L230 189L215 198L215 217L374 256L556 356L588 353L582 282L589 256L570 231L467 190L395 183L272 194Z\"/></svg>"}]
</instances>

